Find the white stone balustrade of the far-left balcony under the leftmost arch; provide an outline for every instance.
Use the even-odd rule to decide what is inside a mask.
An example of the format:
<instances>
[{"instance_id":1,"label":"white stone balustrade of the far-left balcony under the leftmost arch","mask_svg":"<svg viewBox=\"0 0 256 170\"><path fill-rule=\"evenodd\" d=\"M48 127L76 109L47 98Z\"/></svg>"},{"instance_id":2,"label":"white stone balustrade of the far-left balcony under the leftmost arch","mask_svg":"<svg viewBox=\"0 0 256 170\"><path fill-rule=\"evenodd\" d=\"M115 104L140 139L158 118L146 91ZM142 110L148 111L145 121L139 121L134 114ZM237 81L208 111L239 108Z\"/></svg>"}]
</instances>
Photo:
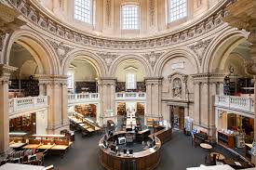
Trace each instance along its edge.
<instances>
[{"instance_id":1,"label":"white stone balustrade of the far-left balcony under the leftmost arch","mask_svg":"<svg viewBox=\"0 0 256 170\"><path fill-rule=\"evenodd\" d=\"M20 112L37 111L48 107L48 97L27 97L9 99L9 116Z\"/></svg>"}]
</instances>

